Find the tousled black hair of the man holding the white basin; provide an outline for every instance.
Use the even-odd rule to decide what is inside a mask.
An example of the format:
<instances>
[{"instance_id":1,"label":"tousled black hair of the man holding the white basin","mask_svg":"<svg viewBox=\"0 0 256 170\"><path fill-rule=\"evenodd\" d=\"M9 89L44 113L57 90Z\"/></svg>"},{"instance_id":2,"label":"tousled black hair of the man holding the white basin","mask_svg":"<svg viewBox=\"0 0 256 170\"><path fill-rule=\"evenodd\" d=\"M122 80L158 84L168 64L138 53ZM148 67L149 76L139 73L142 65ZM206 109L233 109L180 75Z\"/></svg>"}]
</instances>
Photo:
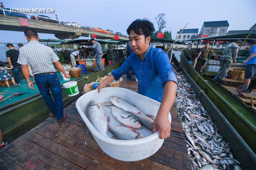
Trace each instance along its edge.
<instances>
[{"instance_id":1,"label":"tousled black hair of the man holding the white basin","mask_svg":"<svg viewBox=\"0 0 256 170\"><path fill-rule=\"evenodd\" d=\"M150 36L152 38L152 34L155 31L154 24L150 22L148 19L137 19L127 28L126 32L130 35L130 31L134 30L134 32L138 35L144 35L145 39ZM151 39L150 39L151 40Z\"/></svg>"}]
</instances>

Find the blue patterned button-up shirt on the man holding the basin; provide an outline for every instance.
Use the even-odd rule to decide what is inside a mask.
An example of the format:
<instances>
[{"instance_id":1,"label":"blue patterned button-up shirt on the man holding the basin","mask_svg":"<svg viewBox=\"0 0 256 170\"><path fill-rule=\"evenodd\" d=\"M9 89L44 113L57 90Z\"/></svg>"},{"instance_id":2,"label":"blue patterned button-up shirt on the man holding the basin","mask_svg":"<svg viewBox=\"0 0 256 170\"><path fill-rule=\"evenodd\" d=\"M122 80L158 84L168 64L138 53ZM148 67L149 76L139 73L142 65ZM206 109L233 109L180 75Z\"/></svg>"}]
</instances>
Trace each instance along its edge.
<instances>
[{"instance_id":1,"label":"blue patterned button-up shirt on the man holding the basin","mask_svg":"<svg viewBox=\"0 0 256 170\"><path fill-rule=\"evenodd\" d=\"M177 77L166 52L149 45L144 59L132 53L124 63L111 74L118 80L123 74L134 70L138 79L138 93L161 102L163 88L167 81L177 83ZM178 84L178 83L177 83Z\"/></svg>"}]
</instances>

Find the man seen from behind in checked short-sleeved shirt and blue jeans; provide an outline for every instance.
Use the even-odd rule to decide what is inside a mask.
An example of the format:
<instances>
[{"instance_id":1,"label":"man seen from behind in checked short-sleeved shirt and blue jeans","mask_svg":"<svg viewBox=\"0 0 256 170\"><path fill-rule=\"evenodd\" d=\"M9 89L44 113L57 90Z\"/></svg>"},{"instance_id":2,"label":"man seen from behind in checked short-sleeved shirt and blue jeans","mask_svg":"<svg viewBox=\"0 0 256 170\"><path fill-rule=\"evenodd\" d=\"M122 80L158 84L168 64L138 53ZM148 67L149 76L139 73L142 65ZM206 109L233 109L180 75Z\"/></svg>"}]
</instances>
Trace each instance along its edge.
<instances>
[{"instance_id":1,"label":"man seen from behind in checked short-sleeved shirt and blue jeans","mask_svg":"<svg viewBox=\"0 0 256 170\"><path fill-rule=\"evenodd\" d=\"M28 64L30 64L38 90L52 112L49 116L56 117L58 123L61 123L67 115L63 114L62 89L53 63L65 77L70 78L70 75L65 72L59 62L60 58L52 49L39 43L39 36L35 30L26 29L24 34L28 44L21 47L18 62L21 64L28 87L34 89L34 85L29 79ZM49 88L52 91L54 102Z\"/></svg>"}]
</instances>

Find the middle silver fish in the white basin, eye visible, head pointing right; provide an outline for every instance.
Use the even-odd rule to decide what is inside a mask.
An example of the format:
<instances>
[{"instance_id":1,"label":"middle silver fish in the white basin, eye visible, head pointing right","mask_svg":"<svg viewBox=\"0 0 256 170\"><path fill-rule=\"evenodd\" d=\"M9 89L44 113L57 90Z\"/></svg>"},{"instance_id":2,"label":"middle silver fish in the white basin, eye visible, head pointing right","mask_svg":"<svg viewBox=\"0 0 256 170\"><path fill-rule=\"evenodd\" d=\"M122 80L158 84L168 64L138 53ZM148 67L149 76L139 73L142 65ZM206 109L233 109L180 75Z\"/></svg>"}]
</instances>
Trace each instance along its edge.
<instances>
[{"instance_id":1,"label":"middle silver fish in the white basin, eye visible, head pointing right","mask_svg":"<svg viewBox=\"0 0 256 170\"><path fill-rule=\"evenodd\" d=\"M113 116L118 121L120 121L122 124L124 124L126 126L130 126L134 129L140 129L141 128L140 121L136 116L134 116L134 115L132 115L132 114L116 107L116 106L109 106L109 107L112 109Z\"/></svg>"}]
</instances>

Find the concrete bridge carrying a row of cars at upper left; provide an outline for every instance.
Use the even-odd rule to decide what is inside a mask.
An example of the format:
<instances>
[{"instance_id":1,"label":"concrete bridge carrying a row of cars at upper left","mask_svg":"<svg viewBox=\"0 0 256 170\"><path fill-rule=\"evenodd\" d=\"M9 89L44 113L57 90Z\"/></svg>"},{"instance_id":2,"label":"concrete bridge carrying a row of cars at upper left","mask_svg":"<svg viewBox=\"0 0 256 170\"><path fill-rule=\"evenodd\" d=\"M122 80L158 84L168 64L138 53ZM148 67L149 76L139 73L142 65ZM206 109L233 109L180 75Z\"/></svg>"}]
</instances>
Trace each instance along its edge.
<instances>
[{"instance_id":1,"label":"concrete bridge carrying a row of cars at upper left","mask_svg":"<svg viewBox=\"0 0 256 170\"><path fill-rule=\"evenodd\" d=\"M77 28L63 24L27 19L29 26L21 26L19 17L0 14L0 30L21 31L27 28L34 29L38 33L54 34L58 39L77 39L78 37L92 37L95 34L98 39L114 40L113 33L102 33L85 28ZM119 40L128 40L127 37L119 36Z\"/></svg>"}]
</instances>

